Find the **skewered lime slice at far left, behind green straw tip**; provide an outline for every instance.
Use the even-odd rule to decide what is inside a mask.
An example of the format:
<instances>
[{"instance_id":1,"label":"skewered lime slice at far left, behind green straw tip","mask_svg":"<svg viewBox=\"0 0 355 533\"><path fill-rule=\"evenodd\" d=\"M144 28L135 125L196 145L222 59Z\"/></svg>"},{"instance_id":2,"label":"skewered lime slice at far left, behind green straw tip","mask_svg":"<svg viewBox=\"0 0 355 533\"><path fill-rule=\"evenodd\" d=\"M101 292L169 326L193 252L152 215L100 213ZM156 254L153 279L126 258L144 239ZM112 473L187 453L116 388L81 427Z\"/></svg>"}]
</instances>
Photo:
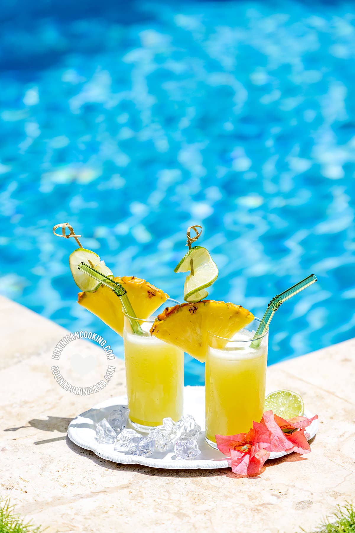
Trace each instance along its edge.
<instances>
[{"instance_id":1,"label":"skewered lime slice at far left, behind green straw tip","mask_svg":"<svg viewBox=\"0 0 355 533\"><path fill-rule=\"evenodd\" d=\"M89 261L92 263L90 264ZM89 266L93 265L93 268L101 274L104 274L108 278L113 278L113 274L108 266L105 265L104 261L100 260L100 257L85 248L77 248L69 256L69 266L71 270L72 277L76 282L79 289L84 290L86 293L92 293L94 290L97 290L101 285L100 281L88 276L85 272L78 269L79 263L86 263Z\"/></svg>"}]
</instances>

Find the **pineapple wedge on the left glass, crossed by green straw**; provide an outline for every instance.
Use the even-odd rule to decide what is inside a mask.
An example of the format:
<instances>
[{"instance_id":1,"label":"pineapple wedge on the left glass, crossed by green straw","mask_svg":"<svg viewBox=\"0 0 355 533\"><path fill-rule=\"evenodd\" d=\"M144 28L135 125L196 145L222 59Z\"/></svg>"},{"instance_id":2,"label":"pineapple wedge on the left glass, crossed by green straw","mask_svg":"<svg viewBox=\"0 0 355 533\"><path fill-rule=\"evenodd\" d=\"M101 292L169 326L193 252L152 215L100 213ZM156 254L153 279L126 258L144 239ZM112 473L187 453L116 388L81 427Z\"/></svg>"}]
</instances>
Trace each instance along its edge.
<instances>
[{"instance_id":1,"label":"pineapple wedge on the left glass, crossed by green straw","mask_svg":"<svg viewBox=\"0 0 355 533\"><path fill-rule=\"evenodd\" d=\"M150 317L169 298L161 289L145 279L134 276L113 279L127 290L127 296L138 318ZM122 305L120 298L111 289L101 285L95 292L78 293L78 304L96 314L114 332L123 335Z\"/></svg>"}]
</instances>

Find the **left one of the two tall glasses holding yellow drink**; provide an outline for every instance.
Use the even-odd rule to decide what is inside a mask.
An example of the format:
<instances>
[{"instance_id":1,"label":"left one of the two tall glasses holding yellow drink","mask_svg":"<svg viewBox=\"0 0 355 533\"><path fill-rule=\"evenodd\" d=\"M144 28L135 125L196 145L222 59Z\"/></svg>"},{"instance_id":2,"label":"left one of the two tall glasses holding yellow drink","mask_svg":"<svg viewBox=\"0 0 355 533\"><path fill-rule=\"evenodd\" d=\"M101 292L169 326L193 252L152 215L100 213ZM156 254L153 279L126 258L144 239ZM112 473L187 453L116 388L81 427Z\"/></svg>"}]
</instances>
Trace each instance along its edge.
<instances>
[{"instance_id":1,"label":"left one of the two tall glasses holding yellow drink","mask_svg":"<svg viewBox=\"0 0 355 533\"><path fill-rule=\"evenodd\" d=\"M178 303L169 298L156 315ZM123 328L129 419L143 432L161 425L163 418L177 422L183 415L184 351L149 333L154 319L137 317L143 330L137 334L125 314Z\"/></svg>"}]
</instances>

